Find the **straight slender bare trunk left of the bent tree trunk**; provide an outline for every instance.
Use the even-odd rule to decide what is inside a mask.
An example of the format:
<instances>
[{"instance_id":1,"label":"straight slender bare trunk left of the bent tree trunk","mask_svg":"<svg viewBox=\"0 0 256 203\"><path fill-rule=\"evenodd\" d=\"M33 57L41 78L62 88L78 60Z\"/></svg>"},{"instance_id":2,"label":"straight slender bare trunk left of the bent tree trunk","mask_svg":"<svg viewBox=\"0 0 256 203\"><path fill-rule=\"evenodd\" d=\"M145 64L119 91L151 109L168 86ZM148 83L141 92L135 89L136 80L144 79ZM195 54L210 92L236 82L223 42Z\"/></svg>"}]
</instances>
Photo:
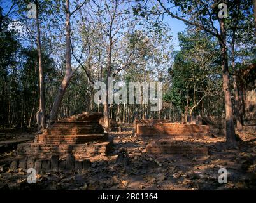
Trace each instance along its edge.
<instances>
[{"instance_id":1,"label":"straight slender bare trunk left of the bent tree trunk","mask_svg":"<svg viewBox=\"0 0 256 203\"><path fill-rule=\"evenodd\" d=\"M46 128L45 121L45 84L44 84L44 76L43 76L43 62L42 62L42 54L41 54L41 31L39 27L39 3L36 1L36 44L38 46L38 64L39 64L39 123L38 126L41 125L41 128Z\"/></svg>"}]
</instances>

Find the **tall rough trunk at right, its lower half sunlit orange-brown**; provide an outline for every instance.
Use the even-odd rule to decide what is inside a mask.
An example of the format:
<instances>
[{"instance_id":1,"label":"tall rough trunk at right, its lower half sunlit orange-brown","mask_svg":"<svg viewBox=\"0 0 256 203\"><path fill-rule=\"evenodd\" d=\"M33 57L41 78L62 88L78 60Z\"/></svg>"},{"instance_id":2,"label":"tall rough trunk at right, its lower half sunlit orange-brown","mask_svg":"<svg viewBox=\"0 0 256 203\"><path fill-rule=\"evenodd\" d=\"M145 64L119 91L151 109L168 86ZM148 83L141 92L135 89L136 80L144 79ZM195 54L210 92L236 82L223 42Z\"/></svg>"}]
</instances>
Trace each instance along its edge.
<instances>
[{"instance_id":1,"label":"tall rough trunk at right, its lower half sunlit orange-brown","mask_svg":"<svg viewBox=\"0 0 256 203\"><path fill-rule=\"evenodd\" d=\"M226 137L227 143L234 145L236 143L233 110L231 102L231 93L229 90L229 67L227 60L227 46L226 46L226 31L224 19L220 19L220 35L222 41L220 41L221 47L221 61L222 61L222 79L223 79L223 91L225 98L225 121L226 121Z\"/></svg>"}]
</instances>

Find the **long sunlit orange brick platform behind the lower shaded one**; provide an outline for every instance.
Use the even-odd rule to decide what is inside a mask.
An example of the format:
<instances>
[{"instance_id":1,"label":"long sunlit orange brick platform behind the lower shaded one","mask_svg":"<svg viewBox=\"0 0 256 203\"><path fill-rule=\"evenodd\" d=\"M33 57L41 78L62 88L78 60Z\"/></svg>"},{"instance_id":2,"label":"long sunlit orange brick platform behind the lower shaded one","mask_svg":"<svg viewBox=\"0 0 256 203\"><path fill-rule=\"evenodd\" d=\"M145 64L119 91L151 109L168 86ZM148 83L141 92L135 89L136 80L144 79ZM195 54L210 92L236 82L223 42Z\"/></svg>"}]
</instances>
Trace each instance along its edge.
<instances>
[{"instance_id":1,"label":"long sunlit orange brick platform behind the lower shaded one","mask_svg":"<svg viewBox=\"0 0 256 203\"><path fill-rule=\"evenodd\" d=\"M209 126L180 123L136 124L136 136L204 136L209 134Z\"/></svg>"}]
</instances>

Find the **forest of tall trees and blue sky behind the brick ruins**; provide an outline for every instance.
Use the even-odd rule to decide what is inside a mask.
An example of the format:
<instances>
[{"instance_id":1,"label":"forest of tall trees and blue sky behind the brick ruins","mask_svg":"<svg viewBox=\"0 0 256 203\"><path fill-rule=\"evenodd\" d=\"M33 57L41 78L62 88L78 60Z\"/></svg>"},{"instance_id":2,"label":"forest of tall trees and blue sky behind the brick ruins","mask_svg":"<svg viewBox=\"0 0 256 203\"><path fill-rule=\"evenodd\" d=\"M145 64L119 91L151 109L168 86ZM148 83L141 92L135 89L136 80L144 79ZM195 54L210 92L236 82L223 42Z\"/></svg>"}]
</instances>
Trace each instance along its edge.
<instances>
[{"instance_id":1,"label":"forest of tall trees and blue sky behind the brick ruins","mask_svg":"<svg viewBox=\"0 0 256 203\"><path fill-rule=\"evenodd\" d=\"M227 19L217 16L218 1L167 2L1 1L1 126L45 128L81 112L118 122L202 115L225 118L232 140L233 118L238 124L243 114L240 73L255 63L253 1L222 1ZM186 23L179 50L163 18ZM143 102L96 105L94 82L110 76L124 85L163 82L162 110Z\"/></svg>"}]
</instances>

